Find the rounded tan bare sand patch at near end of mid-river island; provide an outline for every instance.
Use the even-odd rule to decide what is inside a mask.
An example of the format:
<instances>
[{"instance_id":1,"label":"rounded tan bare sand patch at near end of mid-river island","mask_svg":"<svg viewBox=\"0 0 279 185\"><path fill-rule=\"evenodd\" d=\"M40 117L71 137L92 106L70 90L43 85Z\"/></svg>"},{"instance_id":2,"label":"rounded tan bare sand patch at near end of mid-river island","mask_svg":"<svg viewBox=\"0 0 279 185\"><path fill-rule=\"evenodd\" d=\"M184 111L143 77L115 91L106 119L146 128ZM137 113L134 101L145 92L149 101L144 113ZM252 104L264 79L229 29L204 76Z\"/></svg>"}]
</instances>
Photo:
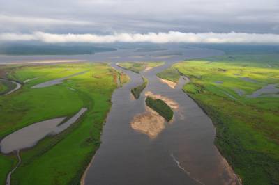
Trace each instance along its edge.
<instances>
[{"instance_id":1,"label":"rounded tan bare sand patch at near end of mid-river island","mask_svg":"<svg viewBox=\"0 0 279 185\"><path fill-rule=\"evenodd\" d=\"M165 118L146 106L146 111L136 115L130 124L133 129L147 134L150 138L156 138L165 129Z\"/></svg>"}]
</instances>

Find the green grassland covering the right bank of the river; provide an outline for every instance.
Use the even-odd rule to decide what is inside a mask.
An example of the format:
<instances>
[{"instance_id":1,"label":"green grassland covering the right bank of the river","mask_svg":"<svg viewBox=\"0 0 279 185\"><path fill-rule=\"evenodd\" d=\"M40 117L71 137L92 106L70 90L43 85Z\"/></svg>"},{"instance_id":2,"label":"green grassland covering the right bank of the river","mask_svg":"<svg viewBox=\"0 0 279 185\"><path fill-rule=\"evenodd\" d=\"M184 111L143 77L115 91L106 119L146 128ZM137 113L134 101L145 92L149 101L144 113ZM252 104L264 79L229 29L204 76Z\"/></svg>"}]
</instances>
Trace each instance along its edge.
<instances>
[{"instance_id":1,"label":"green grassland covering the right bank of the river","mask_svg":"<svg viewBox=\"0 0 279 185\"><path fill-rule=\"evenodd\" d=\"M279 97L248 97L268 84L279 83L279 55L186 61L159 77L176 81L175 70L190 77L183 90L213 120L216 145L243 184L279 184Z\"/></svg>"}]
</instances>

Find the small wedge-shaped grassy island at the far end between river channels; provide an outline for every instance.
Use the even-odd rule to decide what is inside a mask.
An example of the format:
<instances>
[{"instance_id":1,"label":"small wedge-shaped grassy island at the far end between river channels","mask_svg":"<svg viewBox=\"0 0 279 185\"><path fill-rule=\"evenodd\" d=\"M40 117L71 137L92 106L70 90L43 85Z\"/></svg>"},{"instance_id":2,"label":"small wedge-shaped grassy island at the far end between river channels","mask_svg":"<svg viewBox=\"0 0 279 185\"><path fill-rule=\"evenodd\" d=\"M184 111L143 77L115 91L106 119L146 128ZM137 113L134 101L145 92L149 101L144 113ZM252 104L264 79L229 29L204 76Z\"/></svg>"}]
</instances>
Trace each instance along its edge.
<instances>
[{"instance_id":1,"label":"small wedge-shaped grassy island at the far end between river channels","mask_svg":"<svg viewBox=\"0 0 279 185\"><path fill-rule=\"evenodd\" d=\"M118 63L118 65L127 70L140 73L142 70L145 70L148 67L157 67L159 65L163 65L163 62L126 62Z\"/></svg>"}]
</instances>

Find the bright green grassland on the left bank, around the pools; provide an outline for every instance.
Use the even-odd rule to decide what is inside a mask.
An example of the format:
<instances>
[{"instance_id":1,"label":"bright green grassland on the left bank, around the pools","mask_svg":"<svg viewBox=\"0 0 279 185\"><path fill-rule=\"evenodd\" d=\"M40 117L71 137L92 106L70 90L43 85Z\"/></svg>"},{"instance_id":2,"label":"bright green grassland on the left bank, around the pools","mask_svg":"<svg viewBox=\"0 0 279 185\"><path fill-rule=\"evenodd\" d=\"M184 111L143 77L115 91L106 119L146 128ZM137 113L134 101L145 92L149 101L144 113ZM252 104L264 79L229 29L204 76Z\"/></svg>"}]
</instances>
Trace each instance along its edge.
<instances>
[{"instance_id":1,"label":"bright green grassland on the left bank, around the pools","mask_svg":"<svg viewBox=\"0 0 279 185\"><path fill-rule=\"evenodd\" d=\"M32 79L20 90L0 96L0 138L34 122L70 116L84 106L89 108L66 131L21 151L22 164L13 173L12 184L79 184L82 172L100 145L100 132L117 79L124 82L128 78L105 63L10 65L0 70L17 81ZM31 88L85 70L89 72L70 77L60 85ZM0 184L4 184L17 160L13 154L0 154L0 163Z\"/></svg>"}]
</instances>

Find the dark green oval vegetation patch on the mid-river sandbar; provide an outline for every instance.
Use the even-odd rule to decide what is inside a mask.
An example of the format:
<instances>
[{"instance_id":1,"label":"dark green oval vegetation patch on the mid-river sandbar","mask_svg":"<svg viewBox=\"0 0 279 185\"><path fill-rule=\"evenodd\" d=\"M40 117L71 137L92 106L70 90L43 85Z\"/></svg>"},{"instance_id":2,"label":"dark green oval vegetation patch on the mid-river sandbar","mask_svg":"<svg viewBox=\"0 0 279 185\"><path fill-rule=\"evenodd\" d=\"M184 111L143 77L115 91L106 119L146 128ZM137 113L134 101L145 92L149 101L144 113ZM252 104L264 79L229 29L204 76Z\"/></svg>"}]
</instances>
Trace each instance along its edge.
<instances>
[{"instance_id":1,"label":"dark green oval vegetation patch on the mid-river sandbar","mask_svg":"<svg viewBox=\"0 0 279 185\"><path fill-rule=\"evenodd\" d=\"M146 97L145 103L154 111L162 115L168 122L172 120L174 112L172 111L172 108L170 108L162 99L152 99L151 97Z\"/></svg>"}]
</instances>

